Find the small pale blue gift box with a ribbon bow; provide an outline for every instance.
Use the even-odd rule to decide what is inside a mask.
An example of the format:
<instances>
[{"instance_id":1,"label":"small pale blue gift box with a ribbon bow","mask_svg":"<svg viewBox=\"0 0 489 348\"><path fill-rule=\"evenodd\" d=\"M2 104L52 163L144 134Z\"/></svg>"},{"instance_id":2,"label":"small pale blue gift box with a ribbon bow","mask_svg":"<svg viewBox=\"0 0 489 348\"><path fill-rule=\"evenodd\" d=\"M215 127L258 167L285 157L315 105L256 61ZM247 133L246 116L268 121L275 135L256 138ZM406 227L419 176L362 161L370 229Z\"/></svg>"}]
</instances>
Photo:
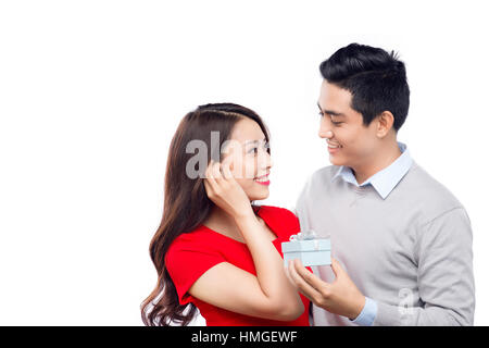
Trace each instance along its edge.
<instances>
[{"instance_id":1,"label":"small pale blue gift box with a ribbon bow","mask_svg":"<svg viewBox=\"0 0 489 348\"><path fill-rule=\"evenodd\" d=\"M304 266L331 264L331 243L329 239L316 238L314 231L299 233L290 241L281 244L284 264L300 259Z\"/></svg>"}]
</instances>

